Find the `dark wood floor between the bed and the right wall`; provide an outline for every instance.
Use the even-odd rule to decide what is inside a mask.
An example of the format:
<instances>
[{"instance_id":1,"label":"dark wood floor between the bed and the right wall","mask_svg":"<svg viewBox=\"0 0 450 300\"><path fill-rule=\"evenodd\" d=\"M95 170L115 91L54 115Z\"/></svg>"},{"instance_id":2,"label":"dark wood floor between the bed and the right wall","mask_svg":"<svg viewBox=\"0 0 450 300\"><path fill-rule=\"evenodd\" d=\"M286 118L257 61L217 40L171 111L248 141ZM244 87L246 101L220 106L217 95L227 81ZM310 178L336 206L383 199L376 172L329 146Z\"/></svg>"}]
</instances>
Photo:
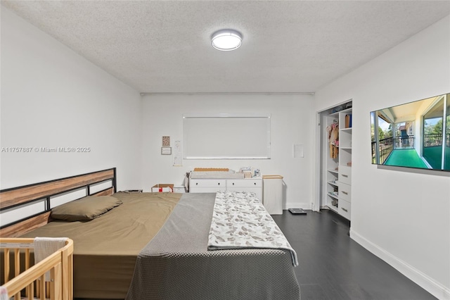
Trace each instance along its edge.
<instances>
[{"instance_id":1,"label":"dark wood floor between the bed and the right wall","mask_svg":"<svg viewBox=\"0 0 450 300\"><path fill-rule=\"evenodd\" d=\"M297 252L302 300L436 299L349 237L349 222L332 211L272 216Z\"/></svg>"}]
</instances>

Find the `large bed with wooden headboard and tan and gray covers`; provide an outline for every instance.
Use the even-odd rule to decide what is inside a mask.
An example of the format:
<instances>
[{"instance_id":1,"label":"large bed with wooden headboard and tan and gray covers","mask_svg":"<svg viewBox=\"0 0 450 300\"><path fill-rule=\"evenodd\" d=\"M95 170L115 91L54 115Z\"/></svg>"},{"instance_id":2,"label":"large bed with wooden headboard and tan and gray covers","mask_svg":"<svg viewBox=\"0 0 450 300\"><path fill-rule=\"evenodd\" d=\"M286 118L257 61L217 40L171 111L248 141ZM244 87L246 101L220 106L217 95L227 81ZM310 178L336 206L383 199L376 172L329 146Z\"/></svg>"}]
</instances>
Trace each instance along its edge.
<instances>
[{"instance_id":1,"label":"large bed with wooden headboard and tan and gray covers","mask_svg":"<svg viewBox=\"0 0 450 300\"><path fill-rule=\"evenodd\" d=\"M105 182L110 187L98 190ZM120 204L89 221L68 221L53 220L56 208L50 203L31 218L1 227L0 236L70 237L76 245L75 298L300 299L290 251L207 249L215 194L114 193L115 182L113 168L42 182L31 187L34 192L27 186L33 196L19 199L20 204L43 197L51 202L55 195L79 189ZM52 190L36 192L41 187ZM4 193L13 191L18 189L1 191L0 205Z\"/></svg>"}]
</instances>

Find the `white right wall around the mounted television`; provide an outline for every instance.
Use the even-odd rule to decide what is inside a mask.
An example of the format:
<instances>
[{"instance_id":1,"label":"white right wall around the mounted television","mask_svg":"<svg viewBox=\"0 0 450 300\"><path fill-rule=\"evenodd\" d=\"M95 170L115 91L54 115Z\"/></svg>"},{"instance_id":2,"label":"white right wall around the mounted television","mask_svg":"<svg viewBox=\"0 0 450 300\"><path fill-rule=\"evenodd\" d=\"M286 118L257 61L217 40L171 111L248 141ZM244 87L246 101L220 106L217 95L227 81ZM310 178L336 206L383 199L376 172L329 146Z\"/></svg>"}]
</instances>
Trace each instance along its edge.
<instances>
[{"instance_id":1,"label":"white right wall around the mounted television","mask_svg":"<svg viewBox=\"0 0 450 300\"><path fill-rule=\"evenodd\" d=\"M450 92L450 16L316 92L353 99L351 237L450 299L450 173L371 165L370 112Z\"/></svg>"}]
</instances>

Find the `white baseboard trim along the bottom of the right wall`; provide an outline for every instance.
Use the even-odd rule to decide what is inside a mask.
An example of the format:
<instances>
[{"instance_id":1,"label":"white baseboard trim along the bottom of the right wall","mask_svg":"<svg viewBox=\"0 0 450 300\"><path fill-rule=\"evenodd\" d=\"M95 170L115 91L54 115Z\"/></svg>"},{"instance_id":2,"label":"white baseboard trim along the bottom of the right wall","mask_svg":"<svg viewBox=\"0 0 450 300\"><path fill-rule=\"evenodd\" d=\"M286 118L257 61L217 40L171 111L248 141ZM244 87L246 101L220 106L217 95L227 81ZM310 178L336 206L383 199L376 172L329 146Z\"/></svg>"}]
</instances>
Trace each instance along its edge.
<instances>
[{"instance_id":1,"label":"white baseboard trim along the bottom of the right wall","mask_svg":"<svg viewBox=\"0 0 450 300\"><path fill-rule=\"evenodd\" d=\"M424 273L420 272L420 270L413 268L413 266L405 263L401 259L390 254L388 251L385 251L385 249L380 248L376 244L373 244L373 242L354 232L352 228L350 228L350 237L355 242L366 248L368 251L371 251L371 253L373 253L375 256L378 256L386 263L392 265L392 267L397 269L401 274L405 275L413 282L416 282L417 285L425 289L437 299L450 300L449 288L444 287L444 285L436 282L428 275L425 275Z\"/></svg>"}]
</instances>

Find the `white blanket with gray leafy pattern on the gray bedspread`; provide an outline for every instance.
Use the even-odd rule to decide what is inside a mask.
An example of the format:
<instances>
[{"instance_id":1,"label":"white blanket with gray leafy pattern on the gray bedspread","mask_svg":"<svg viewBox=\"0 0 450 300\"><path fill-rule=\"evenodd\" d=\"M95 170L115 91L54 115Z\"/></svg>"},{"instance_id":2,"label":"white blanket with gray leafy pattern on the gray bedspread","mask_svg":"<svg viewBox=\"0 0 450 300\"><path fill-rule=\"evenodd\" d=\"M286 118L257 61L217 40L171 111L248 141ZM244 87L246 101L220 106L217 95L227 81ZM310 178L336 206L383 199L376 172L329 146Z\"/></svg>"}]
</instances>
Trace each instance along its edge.
<instances>
[{"instance_id":1,"label":"white blanket with gray leafy pattern on the gray bedspread","mask_svg":"<svg viewBox=\"0 0 450 300\"><path fill-rule=\"evenodd\" d=\"M274 219L250 192L217 192L208 250L287 249L297 266L297 254Z\"/></svg>"}]
</instances>

